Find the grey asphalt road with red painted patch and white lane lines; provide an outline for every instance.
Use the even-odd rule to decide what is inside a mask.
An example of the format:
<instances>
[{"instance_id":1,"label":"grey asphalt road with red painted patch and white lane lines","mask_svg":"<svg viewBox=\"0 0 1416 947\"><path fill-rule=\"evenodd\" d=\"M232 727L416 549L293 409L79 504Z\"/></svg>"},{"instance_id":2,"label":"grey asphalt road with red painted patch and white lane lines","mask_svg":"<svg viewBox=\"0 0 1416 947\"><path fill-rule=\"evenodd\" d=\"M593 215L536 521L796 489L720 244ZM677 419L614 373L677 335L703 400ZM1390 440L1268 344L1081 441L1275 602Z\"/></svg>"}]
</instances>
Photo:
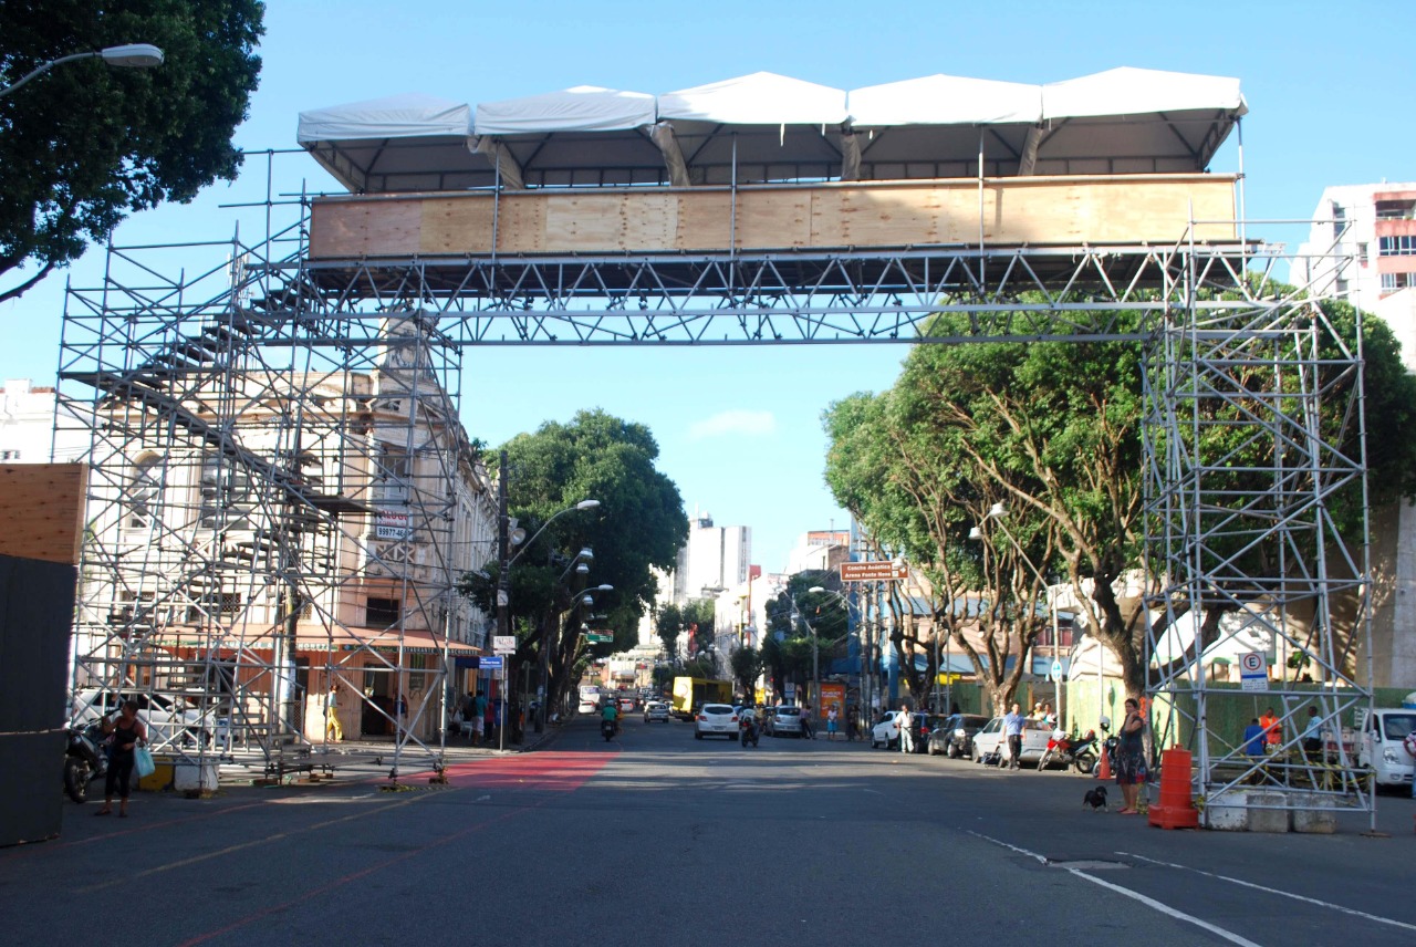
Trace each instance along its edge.
<instances>
[{"instance_id":1,"label":"grey asphalt road with red painted patch and white lane lines","mask_svg":"<svg viewBox=\"0 0 1416 947\"><path fill-rule=\"evenodd\" d=\"M639 719L449 777L67 804L59 839L0 851L4 940L1416 943L1406 798L1388 838L1171 832L1083 811L1075 774Z\"/></svg>"}]
</instances>

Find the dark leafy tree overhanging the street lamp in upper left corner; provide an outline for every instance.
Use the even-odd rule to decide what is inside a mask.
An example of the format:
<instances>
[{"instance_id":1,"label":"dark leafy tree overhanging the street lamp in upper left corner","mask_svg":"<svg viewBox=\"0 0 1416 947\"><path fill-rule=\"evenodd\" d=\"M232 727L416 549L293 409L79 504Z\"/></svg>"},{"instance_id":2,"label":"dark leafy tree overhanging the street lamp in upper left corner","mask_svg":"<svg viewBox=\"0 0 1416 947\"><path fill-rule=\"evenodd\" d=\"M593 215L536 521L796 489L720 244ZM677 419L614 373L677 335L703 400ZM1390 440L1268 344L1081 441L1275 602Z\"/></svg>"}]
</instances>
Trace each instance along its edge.
<instances>
[{"instance_id":1,"label":"dark leafy tree overhanging the street lamp in upper left corner","mask_svg":"<svg viewBox=\"0 0 1416 947\"><path fill-rule=\"evenodd\" d=\"M78 258L129 212L235 180L231 137L256 89L263 16L259 0L0 4L3 85L72 52L150 42L164 54L152 69L68 62L0 98L0 277L34 270L0 300Z\"/></svg>"}]
</instances>

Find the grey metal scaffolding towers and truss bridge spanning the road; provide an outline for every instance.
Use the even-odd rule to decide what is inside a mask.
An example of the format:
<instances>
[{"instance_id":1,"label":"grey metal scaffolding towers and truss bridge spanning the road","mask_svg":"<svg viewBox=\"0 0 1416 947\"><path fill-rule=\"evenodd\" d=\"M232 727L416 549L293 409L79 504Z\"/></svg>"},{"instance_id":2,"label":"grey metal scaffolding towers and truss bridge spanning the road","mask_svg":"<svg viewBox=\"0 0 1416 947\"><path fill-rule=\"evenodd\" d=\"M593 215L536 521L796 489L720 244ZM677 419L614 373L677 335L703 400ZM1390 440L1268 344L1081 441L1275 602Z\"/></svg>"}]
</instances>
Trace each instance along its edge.
<instances>
[{"instance_id":1,"label":"grey metal scaffolding towers and truss bridge spanning the road","mask_svg":"<svg viewBox=\"0 0 1416 947\"><path fill-rule=\"evenodd\" d=\"M1283 248L1178 236L312 260L299 210L256 246L180 248L215 258L200 276L166 279L149 262L177 248L113 246L103 285L69 292L59 416L93 419L95 469L78 685L180 695L269 753L300 735L285 681L306 674L290 662L302 629L323 636L321 685L350 689L362 682L346 674L353 654L404 679L418 631L442 654L418 711L436 709L449 645L470 640L450 627L463 607L450 551L479 541L446 525L473 461L456 423L466 348L1133 338L1146 351L1150 606L1172 627L1205 609L1263 623L1314 661L1338 730L1369 704L1349 661L1368 653L1365 548L1344 542L1330 508L1357 491L1365 524L1362 354L1306 287L1279 289ZM925 334L939 311L966 313L970 330ZM1140 331L1119 330L1126 311L1144 314ZM354 614L340 593L355 587L387 589L372 597L396 614ZM1208 644L1182 644L1155 694L1157 715L1188 722L1170 732L1197 749L1198 791L1214 798L1252 773L1235 766L1233 735L1208 729L1206 708L1232 694L1205 675ZM1270 694L1297 706L1297 691ZM402 742L409 729L392 722ZM1298 773L1314 767L1286 764L1281 804L1369 807L1351 754L1338 757L1307 786Z\"/></svg>"}]
</instances>

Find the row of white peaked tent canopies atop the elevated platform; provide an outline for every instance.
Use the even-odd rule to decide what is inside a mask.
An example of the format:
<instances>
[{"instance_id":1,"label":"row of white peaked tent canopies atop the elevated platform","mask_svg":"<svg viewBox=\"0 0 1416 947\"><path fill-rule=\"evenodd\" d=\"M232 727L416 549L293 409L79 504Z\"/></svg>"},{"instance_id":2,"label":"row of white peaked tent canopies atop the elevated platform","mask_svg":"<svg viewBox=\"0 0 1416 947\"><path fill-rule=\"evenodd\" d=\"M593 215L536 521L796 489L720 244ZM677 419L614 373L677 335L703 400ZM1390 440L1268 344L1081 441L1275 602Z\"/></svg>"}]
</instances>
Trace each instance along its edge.
<instances>
[{"instance_id":1,"label":"row of white peaked tent canopies atop the elevated platform","mask_svg":"<svg viewBox=\"0 0 1416 947\"><path fill-rule=\"evenodd\" d=\"M1246 110L1238 79L1154 69L852 92L756 72L658 96L576 86L474 109L394 96L304 112L297 137L362 193L1144 174L1204 171Z\"/></svg>"}]
</instances>

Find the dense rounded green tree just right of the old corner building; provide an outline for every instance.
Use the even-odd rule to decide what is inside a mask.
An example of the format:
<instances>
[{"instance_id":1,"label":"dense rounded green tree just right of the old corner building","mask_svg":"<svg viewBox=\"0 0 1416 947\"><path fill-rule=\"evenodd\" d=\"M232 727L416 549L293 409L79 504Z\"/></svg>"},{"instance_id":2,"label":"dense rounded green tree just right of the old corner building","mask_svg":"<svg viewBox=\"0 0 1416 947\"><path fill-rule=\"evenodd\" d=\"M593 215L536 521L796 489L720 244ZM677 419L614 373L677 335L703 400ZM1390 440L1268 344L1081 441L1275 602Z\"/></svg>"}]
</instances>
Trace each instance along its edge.
<instances>
[{"instance_id":1,"label":"dense rounded green tree just right of the old corner building","mask_svg":"<svg viewBox=\"0 0 1416 947\"><path fill-rule=\"evenodd\" d=\"M511 515L528 534L582 500L600 501L596 510L551 522L518 553L510 576L515 660L544 660L547 699L556 706L585 655L581 626L589 610L579 603L582 589L613 586L593 600L593 612L606 616L596 624L615 634L613 644L596 645L596 653L629 650L657 589L651 569L674 563L688 538L688 518L678 488L654 467L658 444L643 425L582 411L571 423L547 422L518 435L504 449L510 469L498 476L508 478ZM595 556L588 576L569 568L583 548ZM483 609L494 607L497 569L493 561L483 568L489 578L463 576L463 590Z\"/></svg>"}]
</instances>

